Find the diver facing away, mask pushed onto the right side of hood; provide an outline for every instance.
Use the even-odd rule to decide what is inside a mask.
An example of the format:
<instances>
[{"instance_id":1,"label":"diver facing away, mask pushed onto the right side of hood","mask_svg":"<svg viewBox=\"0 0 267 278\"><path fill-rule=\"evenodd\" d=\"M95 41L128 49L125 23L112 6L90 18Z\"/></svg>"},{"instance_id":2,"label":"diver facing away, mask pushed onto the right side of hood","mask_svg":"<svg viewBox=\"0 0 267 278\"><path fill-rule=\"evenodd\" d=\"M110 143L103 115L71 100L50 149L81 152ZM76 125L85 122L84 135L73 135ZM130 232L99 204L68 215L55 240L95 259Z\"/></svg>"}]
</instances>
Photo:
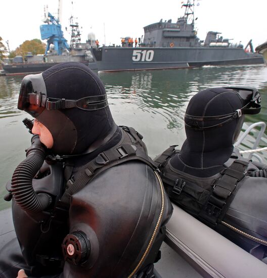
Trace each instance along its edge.
<instances>
[{"instance_id":1,"label":"diver facing away, mask pushed onto the right side of hood","mask_svg":"<svg viewBox=\"0 0 267 278\"><path fill-rule=\"evenodd\" d=\"M209 88L189 102L187 139L156 161L171 201L259 259L267 255L267 165L233 144L245 114L260 111L255 88ZM261 246L262 244L262 246Z\"/></svg>"}]
</instances>

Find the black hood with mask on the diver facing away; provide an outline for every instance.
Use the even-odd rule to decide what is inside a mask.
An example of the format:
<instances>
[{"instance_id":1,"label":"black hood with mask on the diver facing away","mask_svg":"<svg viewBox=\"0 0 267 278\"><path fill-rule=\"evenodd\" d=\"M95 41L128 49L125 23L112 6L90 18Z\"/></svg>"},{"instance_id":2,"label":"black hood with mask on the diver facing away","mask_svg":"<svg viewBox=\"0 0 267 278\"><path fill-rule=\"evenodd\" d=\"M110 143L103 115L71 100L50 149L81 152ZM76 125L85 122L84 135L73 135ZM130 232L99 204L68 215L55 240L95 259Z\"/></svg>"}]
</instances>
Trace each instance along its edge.
<instances>
[{"instance_id":1,"label":"black hood with mask on the diver facing away","mask_svg":"<svg viewBox=\"0 0 267 278\"><path fill-rule=\"evenodd\" d=\"M202 177L219 171L233 152L244 114L260 110L257 90L246 89L243 95L250 97L244 98L240 90L227 87L208 88L192 97L185 115L187 140L180 155L171 159L175 169ZM253 96L257 98L253 100Z\"/></svg>"}]
</instances>

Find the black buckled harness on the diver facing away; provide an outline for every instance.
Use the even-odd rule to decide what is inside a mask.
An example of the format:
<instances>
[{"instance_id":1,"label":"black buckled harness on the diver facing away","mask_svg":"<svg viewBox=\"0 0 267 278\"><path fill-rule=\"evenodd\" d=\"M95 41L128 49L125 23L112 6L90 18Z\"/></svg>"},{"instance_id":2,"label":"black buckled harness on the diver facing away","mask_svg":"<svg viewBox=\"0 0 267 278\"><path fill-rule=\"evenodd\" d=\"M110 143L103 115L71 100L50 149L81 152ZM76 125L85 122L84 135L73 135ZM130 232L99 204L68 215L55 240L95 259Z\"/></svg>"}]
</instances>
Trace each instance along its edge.
<instances>
[{"instance_id":1,"label":"black buckled harness on the diver facing away","mask_svg":"<svg viewBox=\"0 0 267 278\"><path fill-rule=\"evenodd\" d=\"M238 183L245 177L248 161L235 159L229 167L220 171L221 176L219 178L213 180L210 186L200 193L199 187L194 182L181 177L168 166L169 159L179 153L175 147L171 146L155 160L162 172L161 178L166 192L170 199L180 206L182 203L181 193L192 196L191 201L196 198L195 202L199 206L194 212L190 203L188 205L182 204L183 209L208 226L215 227L224 218L235 196Z\"/></svg>"}]
</instances>

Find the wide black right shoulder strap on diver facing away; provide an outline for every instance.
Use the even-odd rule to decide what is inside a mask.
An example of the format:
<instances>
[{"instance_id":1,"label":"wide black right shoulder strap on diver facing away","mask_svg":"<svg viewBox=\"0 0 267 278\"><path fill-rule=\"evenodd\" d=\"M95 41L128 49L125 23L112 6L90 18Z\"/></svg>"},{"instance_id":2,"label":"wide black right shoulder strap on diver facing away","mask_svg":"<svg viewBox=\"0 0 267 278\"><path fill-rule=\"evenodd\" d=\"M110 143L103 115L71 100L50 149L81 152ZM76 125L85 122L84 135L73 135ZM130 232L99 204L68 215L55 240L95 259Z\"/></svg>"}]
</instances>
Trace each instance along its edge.
<instances>
[{"instance_id":1,"label":"wide black right shoulder strap on diver facing away","mask_svg":"<svg viewBox=\"0 0 267 278\"><path fill-rule=\"evenodd\" d=\"M214 181L211 194L200 211L199 218L202 221L215 226L224 218L237 183L245 176L247 165L248 161L236 159L229 168L221 171L222 176Z\"/></svg>"}]
</instances>

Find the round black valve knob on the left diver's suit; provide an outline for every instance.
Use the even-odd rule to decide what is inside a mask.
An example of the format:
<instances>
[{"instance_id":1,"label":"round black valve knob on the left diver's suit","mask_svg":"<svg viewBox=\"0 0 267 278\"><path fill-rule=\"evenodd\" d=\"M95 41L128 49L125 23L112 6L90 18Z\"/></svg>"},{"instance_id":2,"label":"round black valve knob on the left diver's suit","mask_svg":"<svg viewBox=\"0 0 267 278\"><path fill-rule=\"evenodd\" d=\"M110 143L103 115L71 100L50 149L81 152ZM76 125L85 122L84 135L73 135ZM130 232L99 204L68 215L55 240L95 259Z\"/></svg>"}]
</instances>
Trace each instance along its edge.
<instances>
[{"instance_id":1,"label":"round black valve knob on the left diver's suit","mask_svg":"<svg viewBox=\"0 0 267 278\"><path fill-rule=\"evenodd\" d=\"M91 251L90 241L81 230L68 234L62 244L62 251L65 261L80 265L84 263Z\"/></svg>"}]
</instances>

